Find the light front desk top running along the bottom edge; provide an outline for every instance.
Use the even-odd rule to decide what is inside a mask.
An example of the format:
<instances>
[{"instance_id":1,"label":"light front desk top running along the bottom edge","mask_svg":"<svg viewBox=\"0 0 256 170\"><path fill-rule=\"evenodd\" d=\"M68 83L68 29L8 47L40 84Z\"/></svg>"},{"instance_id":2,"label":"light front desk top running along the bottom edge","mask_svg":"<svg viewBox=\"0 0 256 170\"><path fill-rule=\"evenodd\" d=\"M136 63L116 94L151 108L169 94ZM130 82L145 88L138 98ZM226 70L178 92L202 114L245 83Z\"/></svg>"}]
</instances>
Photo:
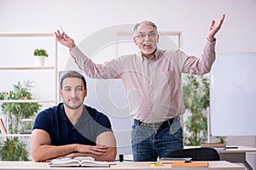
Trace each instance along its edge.
<instances>
[{"instance_id":1,"label":"light front desk top running along the bottom edge","mask_svg":"<svg viewBox=\"0 0 256 170\"><path fill-rule=\"evenodd\" d=\"M198 169L198 167L172 167L171 164L165 164L162 167L149 167L149 162L118 162L116 165L111 165L111 167L49 167L47 162L33 162L33 161L0 161L0 170L49 170L49 169L61 169L61 170L71 170L71 169L86 169L86 170L96 170L96 169L114 169L114 170L192 170ZM228 161L209 161L209 167L201 167L201 170L245 170L244 167L230 163Z\"/></svg>"}]
</instances>

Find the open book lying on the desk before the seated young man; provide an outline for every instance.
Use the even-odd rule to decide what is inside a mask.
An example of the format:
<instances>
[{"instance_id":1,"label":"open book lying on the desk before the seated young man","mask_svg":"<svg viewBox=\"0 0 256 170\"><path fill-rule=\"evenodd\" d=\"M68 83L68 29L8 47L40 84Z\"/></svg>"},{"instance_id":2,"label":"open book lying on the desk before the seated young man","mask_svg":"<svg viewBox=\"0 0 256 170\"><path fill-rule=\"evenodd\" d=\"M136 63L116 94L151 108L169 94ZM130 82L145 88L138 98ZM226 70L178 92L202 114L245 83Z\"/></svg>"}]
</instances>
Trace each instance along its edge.
<instances>
[{"instance_id":1,"label":"open book lying on the desk before the seated young man","mask_svg":"<svg viewBox=\"0 0 256 170\"><path fill-rule=\"evenodd\" d=\"M49 167L110 167L115 161L95 161L91 156L78 156L74 158L54 159Z\"/></svg>"}]
</instances>

